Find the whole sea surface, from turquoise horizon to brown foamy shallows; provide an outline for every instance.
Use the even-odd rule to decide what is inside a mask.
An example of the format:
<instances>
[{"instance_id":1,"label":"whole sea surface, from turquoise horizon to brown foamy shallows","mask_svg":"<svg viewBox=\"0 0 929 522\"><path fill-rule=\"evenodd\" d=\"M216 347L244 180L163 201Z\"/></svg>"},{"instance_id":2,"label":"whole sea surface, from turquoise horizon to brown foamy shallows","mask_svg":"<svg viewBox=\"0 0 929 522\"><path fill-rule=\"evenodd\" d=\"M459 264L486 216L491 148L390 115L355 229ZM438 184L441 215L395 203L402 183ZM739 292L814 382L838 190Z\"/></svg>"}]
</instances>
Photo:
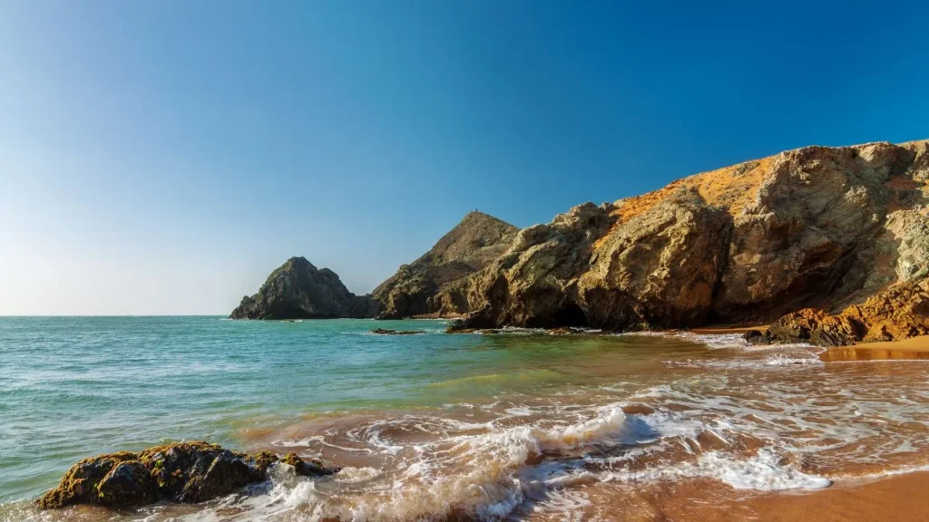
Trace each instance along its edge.
<instances>
[{"instance_id":1,"label":"whole sea surface, from turquoise horizon to brown foamy shallows","mask_svg":"<svg viewBox=\"0 0 929 522\"><path fill-rule=\"evenodd\" d=\"M656 519L669 491L726 502L929 466L926 362L445 326L0 319L0 518L39 519L28 500L82 457L182 438L345 469L314 482L281 466L203 505L44 519Z\"/></svg>"}]
</instances>

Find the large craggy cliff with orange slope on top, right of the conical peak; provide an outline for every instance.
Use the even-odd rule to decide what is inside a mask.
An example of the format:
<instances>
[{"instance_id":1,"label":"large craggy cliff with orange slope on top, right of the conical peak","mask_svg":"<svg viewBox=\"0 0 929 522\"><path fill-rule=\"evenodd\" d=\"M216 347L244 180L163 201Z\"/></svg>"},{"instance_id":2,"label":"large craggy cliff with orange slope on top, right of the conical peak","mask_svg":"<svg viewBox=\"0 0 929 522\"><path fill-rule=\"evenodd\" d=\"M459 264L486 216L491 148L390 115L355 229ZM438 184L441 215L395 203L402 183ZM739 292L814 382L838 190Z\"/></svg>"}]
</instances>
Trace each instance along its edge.
<instances>
[{"instance_id":1,"label":"large craggy cliff with orange slope on top, right of the conical peak","mask_svg":"<svg viewBox=\"0 0 929 522\"><path fill-rule=\"evenodd\" d=\"M459 327L687 328L864 304L929 270L927 147L807 147L582 204L455 281Z\"/></svg>"}]
</instances>

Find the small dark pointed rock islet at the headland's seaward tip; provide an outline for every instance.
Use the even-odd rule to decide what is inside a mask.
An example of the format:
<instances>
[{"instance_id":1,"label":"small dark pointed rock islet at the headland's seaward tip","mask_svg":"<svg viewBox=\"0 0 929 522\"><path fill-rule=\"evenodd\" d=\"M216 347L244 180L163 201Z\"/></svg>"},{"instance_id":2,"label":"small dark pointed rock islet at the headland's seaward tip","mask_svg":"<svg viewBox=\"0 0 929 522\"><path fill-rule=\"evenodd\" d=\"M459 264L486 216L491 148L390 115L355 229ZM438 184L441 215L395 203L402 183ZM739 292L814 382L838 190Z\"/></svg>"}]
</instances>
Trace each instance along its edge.
<instances>
[{"instance_id":1,"label":"small dark pointed rock islet at the headland's seaward tip","mask_svg":"<svg viewBox=\"0 0 929 522\"><path fill-rule=\"evenodd\" d=\"M329 268L318 269L304 257L291 257L258 293L242 297L231 319L373 318L381 311L371 295L355 295Z\"/></svg>"}]
</instances>

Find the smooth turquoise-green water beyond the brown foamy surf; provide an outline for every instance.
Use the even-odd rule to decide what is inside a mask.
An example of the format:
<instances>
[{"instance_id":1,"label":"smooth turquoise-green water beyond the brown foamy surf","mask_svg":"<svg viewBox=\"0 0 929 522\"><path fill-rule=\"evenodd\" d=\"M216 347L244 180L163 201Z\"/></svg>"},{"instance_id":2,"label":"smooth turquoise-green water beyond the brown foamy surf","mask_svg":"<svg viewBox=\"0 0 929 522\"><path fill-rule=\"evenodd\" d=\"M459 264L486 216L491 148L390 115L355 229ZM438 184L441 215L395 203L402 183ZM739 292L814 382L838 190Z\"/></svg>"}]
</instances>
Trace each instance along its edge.
<instances>
[{"instance_id":1,"label":"smooth turquoise-green water beyond the brown foamy surf","mask_svg":"<svg viewBox=\"0 0 929 522\"><path fill-rule=\"evenodd\" d=\"M556 385L570 372L546 364L604 349L535 335L528 350L525 336L447 335L446 325L0 318L0 502L36 496L87 455L184 438L241 447L249 429L307 413L440 406ZM370 334L375 327L430 334Z\"/></svg>"}]
</instances>

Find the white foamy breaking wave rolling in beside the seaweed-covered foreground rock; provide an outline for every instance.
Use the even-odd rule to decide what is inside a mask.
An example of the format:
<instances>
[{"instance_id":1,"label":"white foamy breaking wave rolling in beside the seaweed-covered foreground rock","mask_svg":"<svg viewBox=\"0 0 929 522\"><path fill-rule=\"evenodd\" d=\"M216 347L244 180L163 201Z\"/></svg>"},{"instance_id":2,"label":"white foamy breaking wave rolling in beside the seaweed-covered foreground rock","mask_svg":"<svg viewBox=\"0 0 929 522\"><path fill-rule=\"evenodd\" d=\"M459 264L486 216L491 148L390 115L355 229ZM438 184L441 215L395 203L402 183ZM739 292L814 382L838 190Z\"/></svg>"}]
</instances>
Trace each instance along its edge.
<instances>
[{"instance_id":1,"label":"white foamy breaking wave rolling in beside the seaweed-covered foreground rock","mask_svg":"<svg viewBox=\"0 0 929 522\"><path fill-rule=\"evenodd\" d=\"M503 427L494 422L452 423L425 415L374 422L353 433L403 464L394 472L348 467L334 476L336 482L370 488L356 495L343 491L334 502L324 482L294 485L289 476L275 476L275 486L261 496L263 500L245 502L262 503L249 508L255 514L252 519L279 513L281 506L287 506L312 519L412 520L464 515L496 520L527 504L553 513L581 509L589 502L577 488L600 482L709 477L733 488L759 490L818 489L830 483L828 478L782 464L783 455L773 449L764 448L748 457L726 450L701 450L696 438L704 432L715 433L721 444L730 441L718 426L713 428L687 413L626 414L622 406L597 407L578 422L548 427L543 424L551 419L544 418L542 411L518 407L504 411L510 415L530 412L540 417L541 424ZM386 436L417 429L432 434L451 429L486 431L443 435L412 446ZM661 457L681 445L690 448L687 441L697 448L696 452L688 450L687 460ZM598 456L604 452L612 456ZM622 469L641 466L640 461L653 465ZM287 483L290 486L285 488Z\"/></svg>"}]
</instances>

